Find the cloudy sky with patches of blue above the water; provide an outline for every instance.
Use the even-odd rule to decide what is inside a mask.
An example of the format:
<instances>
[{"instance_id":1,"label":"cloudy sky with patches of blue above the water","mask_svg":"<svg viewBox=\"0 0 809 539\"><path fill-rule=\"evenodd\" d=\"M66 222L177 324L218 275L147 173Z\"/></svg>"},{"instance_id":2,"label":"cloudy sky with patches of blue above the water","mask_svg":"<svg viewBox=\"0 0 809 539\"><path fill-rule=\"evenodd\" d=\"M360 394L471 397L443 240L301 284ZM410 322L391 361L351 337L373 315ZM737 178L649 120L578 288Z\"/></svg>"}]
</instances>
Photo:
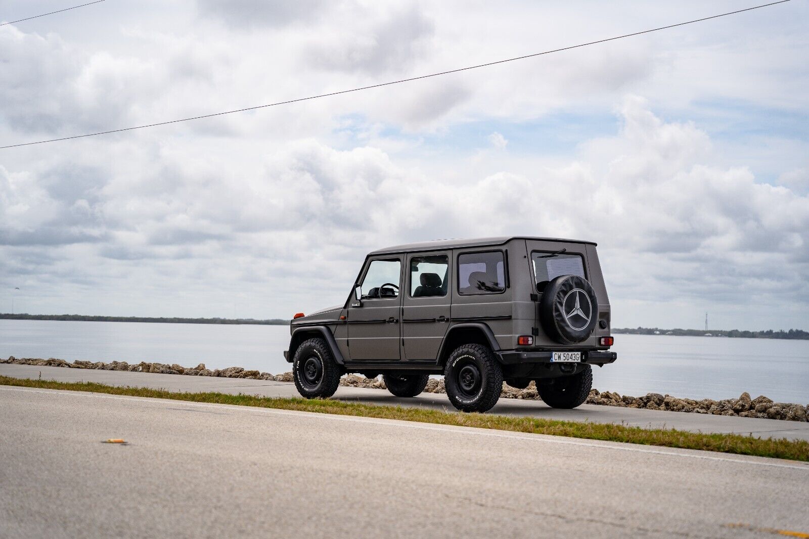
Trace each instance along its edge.
<instances>
[{"instance_id":1,"label":"cloudy sky with patches of blue above the water","mask_svg":"<svg viewBox=\"0 0 809 539\"><path fill-rule=\"evenodd\" d=\"M81 2L0 2L14 20ZM755 2L107 0L0 27L0 146ZM0 150L0 312L290 317L388 244L594 240L616 326L809 329L809 4Z\"/></svg>"}]
</instances>

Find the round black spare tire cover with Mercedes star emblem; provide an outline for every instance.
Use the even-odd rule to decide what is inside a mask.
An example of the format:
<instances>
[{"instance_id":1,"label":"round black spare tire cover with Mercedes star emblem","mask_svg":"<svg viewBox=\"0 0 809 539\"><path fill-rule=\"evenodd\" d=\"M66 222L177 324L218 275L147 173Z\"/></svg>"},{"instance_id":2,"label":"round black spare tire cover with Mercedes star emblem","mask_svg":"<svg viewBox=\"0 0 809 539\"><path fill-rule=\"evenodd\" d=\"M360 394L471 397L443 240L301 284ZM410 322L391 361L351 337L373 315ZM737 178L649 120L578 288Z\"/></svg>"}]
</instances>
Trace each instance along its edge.
<instances>
[{"instance_id":1,"label":"round black spare tire cover with Mercedes star emblem","mask_svg":"<svg viewBox=\"0 0 809 539\"><path fill-rule=\"evenodd\" d=\"M599 302L587 279L560 275L545 286L540 321L545 333L561 344L585 341L595 329Z\"/></svg>"}]
</instances>

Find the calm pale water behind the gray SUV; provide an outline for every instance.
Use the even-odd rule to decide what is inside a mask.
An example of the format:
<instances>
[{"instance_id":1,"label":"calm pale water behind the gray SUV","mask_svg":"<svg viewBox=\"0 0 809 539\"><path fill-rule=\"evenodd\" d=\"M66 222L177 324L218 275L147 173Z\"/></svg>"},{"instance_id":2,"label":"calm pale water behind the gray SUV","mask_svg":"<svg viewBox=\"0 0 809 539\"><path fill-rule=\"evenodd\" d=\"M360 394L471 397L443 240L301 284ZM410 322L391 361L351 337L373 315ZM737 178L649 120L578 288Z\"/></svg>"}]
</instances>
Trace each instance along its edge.
<instances>
[{"instance_id":1,"label":"calm pale water behind the gray SUV","mask_svg":"<svg viewBox=\"0 0 809 539\"><path fill-rule=\"evenodd\" d=\"M140 324L0 320L0 356L205 363L289 371L289 328L278 325ZM747 391L809 403L809 341L616 335L618 361L594 367L594 387L628 395L729 398Z\"/></svg>"}]
</instances>

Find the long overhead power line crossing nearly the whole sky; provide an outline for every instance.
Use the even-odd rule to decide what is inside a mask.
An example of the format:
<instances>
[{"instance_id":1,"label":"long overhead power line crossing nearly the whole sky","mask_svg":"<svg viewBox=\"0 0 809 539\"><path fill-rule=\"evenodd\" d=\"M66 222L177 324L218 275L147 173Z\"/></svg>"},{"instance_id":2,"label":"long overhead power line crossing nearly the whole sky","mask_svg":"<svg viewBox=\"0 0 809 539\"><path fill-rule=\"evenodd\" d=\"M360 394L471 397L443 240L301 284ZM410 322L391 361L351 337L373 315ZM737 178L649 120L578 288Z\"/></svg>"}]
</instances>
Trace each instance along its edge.
<instances>
[{"instance_id":1,"label":"long overhead power line crossing nearly the whole sky","mask_svg":"<svg viewBox=\"0 0 809 539\"><path fill-rule=\"evenodd\" d=\"M228 110L228 111L224 111L224 112L214 112L214 113L211 113L211 114L202 114L200 116L193 116L193 117L188 117L188 118L180 118L178 120L158 121L158 122L155 122L153 124L134 125L133 127L124 127L124 128L121 128L121 129L110 129L108 131L99 131L97 133L87 133L87 134L73 135L71 137L50 138L48 140L39 140L39 141L36 141L36 142L21 142L19 144L10 144L8 146L0 146L0 150L4 150L6 148L16 148L16 147L19 147L19 146L32 146L34 144L44 144L46 142L59 142L59 141L62 141L62 140L71 140L73 138L95 137L95 136L103 135L103 134L121 133L123 131L131 131L133 129L146 129L147 127L157 127L158 125L177 124L177 123L180 123L181 121L201 120L203 118L212 118L212 117L217 117L217 116L224 116L225 114L235 114L236 112L247 112L249 110L256 110L256 109L259 109L259 108L277 107L278 105L283 105L283 104L299 103L300 101L308 101L308 100L316 100L316 99L320 99L321 97L329 97L329 96L332 96L332 95L348 94L348 93L351 93L351 92L354 92L354 91L371 90L371 88L392 86L393 84L409 83L409 82L412 82L414 80L430 79L432 77L440 77L441 75L445 75L445 74L460 73L460 71L476 70L476 69L481 68L481 67L496 66L498 64L505 64L506 62L515 62L517 60L524 60L526 58L542 56L544 54L559 53L559 52L564 51L564 50L578 49L579 47L587 47L588 45L597 45L599 43L606 43L607 41L620 40L620 39L623 39L625 37L641 36L642 34L648 34L650 32L657 32L659 30L666 30L667 28L676 28L678 26L684 26L686 24L701 23L702 21L705 21L705 20L718 19L719 17L726 17L727 15L735 15L737 13L743 13L744 11L757 10L757 9L759 9L761 7L775 6L776 4L782 4L784 2L790 2L790 0L779 0L778 2L769 2L768 4L761 4L760 6L752 6L752 7L745 8L743 10L728 11L727 13L720 13L719 15L711 15L710 17L703 17L702 19L693 19L693 20L685 21L684 23L669 24L667 26L661 26L659 28L650 28L649 30L642 30L641 32L633 32L631 34L624 34L623 36L615 36L615 37L608 37L608 38L605 38L603 40L588 41L587 43L580 43L579 45L570 45L568 47L561 47L560 49L546 50L546 51L543 51L541 53L533 53L533 54L526 54L524 56L506 58L505 60L498 60L496 62L486 62L485 64L478 64L477 66L460 67L460 68L455 69L455 70L447 70L447 71L441 71L441 72L438 72L438 73L424 74L424 75L419 75L417 77L409 77L408 79L393 80L393 81L389 81L387 83L371 84L371 85L368 85L368 86L351 88L349 90L330 91L330 92L325 93L325 94L309 95L308 97L299 97L298 99L294 99L294 100L277 101L275 103L256 105L255 107L236 108L235 110Z\"/></svg>"}]
</instances>

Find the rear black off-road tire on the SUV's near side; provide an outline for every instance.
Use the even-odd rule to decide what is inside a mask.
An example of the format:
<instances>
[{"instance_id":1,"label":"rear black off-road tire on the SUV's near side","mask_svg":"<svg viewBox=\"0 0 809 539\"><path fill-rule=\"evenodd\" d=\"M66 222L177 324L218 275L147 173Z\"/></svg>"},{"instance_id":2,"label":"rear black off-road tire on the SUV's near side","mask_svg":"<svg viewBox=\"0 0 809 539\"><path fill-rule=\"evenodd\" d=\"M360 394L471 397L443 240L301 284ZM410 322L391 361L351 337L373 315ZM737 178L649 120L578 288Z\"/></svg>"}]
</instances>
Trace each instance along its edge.
<instances>
[{"instance_id":1,"label":"rear black off-road tire on the SUV's near side","mask_svg":"<svg viewBox=\"0 0 809 539\"><path fill-rule=\"evenodd\" d=\"M462 412L485 412L500 398L503 371L488 346L459 346L447 359L444 388L455 408Z\"/></svg>"}]
</instances>

